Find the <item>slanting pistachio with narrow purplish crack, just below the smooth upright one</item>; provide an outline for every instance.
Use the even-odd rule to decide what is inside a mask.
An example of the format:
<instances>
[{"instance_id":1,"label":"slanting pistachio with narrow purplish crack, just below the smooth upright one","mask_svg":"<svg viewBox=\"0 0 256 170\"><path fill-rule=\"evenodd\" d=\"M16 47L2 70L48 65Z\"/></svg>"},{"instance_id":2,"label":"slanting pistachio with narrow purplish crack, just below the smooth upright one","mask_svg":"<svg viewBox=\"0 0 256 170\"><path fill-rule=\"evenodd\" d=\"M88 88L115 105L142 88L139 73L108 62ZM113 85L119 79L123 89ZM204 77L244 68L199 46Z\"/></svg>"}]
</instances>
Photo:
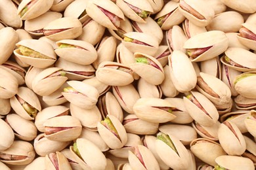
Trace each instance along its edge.
<instances>
[{"instance_id":1,"label":"slanting pistachio with narrow purplish crack, just below the smooth upright one","mask_svg":"<svg viewBox=\"0 0 256 170\"><path fill-rule=\"evenodd\" d=\"M219 119L219 113L216 107L202 93L191 92L190 95L196 99L196 101L194 100L196 104L187 97L183 97L186 110L190 116L202 126L213 126Z\"/></svg>"}]
</instances>

